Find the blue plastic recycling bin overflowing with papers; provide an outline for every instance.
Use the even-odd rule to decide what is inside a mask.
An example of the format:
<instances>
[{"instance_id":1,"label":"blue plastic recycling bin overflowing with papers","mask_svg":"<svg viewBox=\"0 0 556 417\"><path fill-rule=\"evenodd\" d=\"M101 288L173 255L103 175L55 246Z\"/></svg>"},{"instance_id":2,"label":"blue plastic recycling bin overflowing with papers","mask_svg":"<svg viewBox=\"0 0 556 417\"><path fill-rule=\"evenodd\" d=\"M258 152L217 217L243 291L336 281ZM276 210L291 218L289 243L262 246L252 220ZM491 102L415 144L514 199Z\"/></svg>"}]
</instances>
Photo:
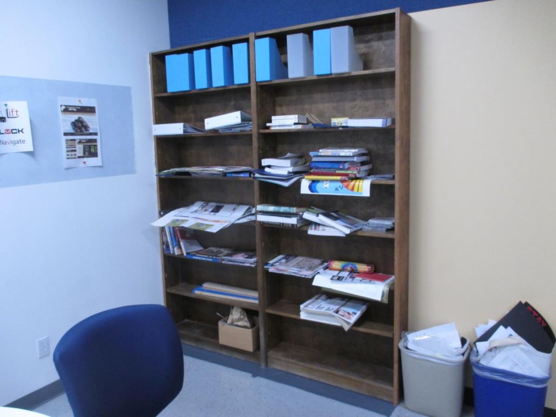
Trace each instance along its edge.
<instances>
[{"instance_id":1,"label":"blue plastic recycling bin overflowing with papers","mask_svg":"<svg viewBox=\"0 0 556 417\"><path fill-rule=\"evenodd\" d=\"M471 356L475 417L543 417L550 376L537 378L478 363Z\"/></svg>"}]
</instances>

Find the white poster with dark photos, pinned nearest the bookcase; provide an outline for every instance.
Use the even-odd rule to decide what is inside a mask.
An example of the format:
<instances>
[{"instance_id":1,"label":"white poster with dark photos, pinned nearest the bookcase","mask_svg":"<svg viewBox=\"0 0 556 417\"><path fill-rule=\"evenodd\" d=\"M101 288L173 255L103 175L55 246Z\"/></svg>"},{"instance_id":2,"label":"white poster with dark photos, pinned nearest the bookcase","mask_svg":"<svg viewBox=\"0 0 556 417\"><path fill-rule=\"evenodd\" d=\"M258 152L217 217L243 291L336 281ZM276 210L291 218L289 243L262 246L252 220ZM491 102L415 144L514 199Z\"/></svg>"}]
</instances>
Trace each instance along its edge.
<instances>
[{"instance_id":1,"label":"white poster with dark photos, pinned nearest the bookcase","mask_svg":"<svg viewBox=\"0 0 556 417\"><path fill-rule=\"evenodd\" d=\"M58 97L64 168L102 166L95 98Z\"/></svg>"}]
</instances>

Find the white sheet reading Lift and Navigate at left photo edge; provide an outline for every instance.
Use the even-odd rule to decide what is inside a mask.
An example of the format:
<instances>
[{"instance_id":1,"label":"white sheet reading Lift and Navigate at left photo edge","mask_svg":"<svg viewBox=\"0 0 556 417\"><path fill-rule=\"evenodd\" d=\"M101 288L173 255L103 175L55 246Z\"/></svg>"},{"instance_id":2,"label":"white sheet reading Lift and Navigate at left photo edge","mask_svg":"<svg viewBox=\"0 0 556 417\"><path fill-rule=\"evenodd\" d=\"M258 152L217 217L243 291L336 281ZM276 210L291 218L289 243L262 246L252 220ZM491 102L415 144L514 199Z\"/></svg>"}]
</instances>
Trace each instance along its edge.
<instances>
[{"instance_id":1,"label":"white sheet reading Lift and Navigate at left photo edge","mask_svg":"<svg viewBox=\"0 0 556 417\"><path fill-rule=\"evenodd\" d=\"M31 152L31 120L26 101L0 101L0 153Z\"/></svg>"}]
</instances>

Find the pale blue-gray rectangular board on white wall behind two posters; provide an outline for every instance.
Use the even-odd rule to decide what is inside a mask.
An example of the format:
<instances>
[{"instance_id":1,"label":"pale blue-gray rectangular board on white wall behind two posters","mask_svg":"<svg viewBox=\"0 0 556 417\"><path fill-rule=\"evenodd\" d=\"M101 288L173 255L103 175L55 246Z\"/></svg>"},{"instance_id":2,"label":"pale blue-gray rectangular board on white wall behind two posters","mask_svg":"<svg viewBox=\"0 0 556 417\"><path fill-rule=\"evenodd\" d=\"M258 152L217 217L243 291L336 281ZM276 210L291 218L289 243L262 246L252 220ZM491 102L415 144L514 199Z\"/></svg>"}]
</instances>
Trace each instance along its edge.
<instances>
[{"instance_id":1,"label":"pale blue-gray rectangular board on white wall behind two posters","mask_svg":"<svg viewBox=\"0 0 556 417\"><path fill-rule=\"evenodd\" d=\"M102 166L63 167L58 97L97 100ZM0 154L0 187L135 173L131 87L0 77L0 100L27 101L34 148Z\"/></svg>"}]
</instances>

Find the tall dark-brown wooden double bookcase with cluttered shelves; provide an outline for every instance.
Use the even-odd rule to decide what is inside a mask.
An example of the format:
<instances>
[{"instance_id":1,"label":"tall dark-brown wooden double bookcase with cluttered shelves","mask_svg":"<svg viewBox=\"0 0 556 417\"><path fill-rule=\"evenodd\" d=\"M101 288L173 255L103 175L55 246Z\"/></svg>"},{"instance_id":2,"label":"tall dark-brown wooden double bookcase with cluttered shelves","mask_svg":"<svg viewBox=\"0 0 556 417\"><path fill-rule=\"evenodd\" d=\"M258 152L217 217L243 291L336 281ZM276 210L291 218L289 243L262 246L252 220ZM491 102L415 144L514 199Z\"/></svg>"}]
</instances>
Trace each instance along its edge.
<instances>
[{"instance_id":1,"label":"tall dark-brown wooden double bookcase with cluttered shelves","mask_svg":"<svg viewBox=\"0 0 556 417\"><path fill-rule=\"evenodd\" d=\"M364 61L363 71L266 82L255 81L255 39L274 37L286 61L286 35L349 24ZM165 56L216 45L249 42L247 85L167 93ZM167 212L191 203L220 201L271 203L342 210L370 219L395 216L395 232L360 231L345 238L307 235L307 227L288 229L260 223L232 225L211 234L196 232L204 247L256 249L256 268L188 260L161 250L165 302L186 344L200 346L261 366L289 371L397 404L400 398L400 333L408 325L409 234L409 82L410 18L400 9L302 24L151 54L153 122L203 126L206 117L242 110L252 115L253 131L155 137L156 169L195 165L259 167L261 158L326 146L369 149L371 173L395 172L395 180L375 181L370 197L302 195L299 184L281 187L237 177L167 177L157 179L158 207ZM394 117L389 128L271 131L272 115L313 113L331 117ZM162 247L162 245L161 245ZM368 311L345 332L341 327L300 320L299 305L321 292L312 280L276 275L265 262L281 253L371 262L394 274L388 304L370 302ZM259 304L192 294L212 281L259 291ZM218 343L217 312L240 305L259 316L260 349L247 353Z\"/></svg>"}]
</instances>

